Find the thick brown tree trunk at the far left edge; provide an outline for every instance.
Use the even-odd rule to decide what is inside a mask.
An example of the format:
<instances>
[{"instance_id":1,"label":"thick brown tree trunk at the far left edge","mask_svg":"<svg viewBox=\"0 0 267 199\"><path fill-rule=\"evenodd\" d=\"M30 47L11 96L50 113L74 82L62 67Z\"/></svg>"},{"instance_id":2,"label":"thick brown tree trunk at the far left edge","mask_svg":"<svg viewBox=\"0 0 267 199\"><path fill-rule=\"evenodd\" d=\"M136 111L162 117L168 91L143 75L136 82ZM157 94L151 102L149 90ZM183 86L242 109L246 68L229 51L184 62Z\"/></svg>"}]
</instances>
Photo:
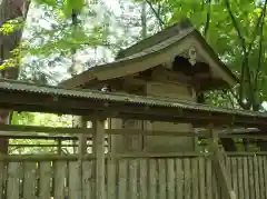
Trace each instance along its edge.
<instances>
[{"instance_id":1,"label":"thick brown tree trunk at the far left edge","mask_svg":"<svg viewBox=\"0 0 267 199\"><path fill-rule=\"evenodd\" d=\"M2 0L0 4L0 23L1 26L8 20L19 17L26 19L29 10L29 1L27 0ZM14 31L9 36L0 36L0 56L1 63L10 58L10 51L16 49L20 42L22 30ZM17 79L19 76L19 66L10 67L0 71L1 78ZM10 110L0 109L0 125L10 122ZM0 153L8 153L8 139L0 139Z\"/></svg>"}]
</instances>

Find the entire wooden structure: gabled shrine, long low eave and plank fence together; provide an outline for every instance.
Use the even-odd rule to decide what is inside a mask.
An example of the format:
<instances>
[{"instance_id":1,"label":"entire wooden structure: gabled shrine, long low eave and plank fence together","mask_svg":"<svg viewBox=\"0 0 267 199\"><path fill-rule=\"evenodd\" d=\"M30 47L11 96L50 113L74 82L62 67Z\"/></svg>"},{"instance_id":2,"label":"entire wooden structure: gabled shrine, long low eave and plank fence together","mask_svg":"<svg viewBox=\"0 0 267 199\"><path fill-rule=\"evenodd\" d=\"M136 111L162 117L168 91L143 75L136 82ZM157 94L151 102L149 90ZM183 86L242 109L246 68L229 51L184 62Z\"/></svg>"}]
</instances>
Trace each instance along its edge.
<instances>
[{"instance_id":1,"label":"entire wooden structure: gabled shrine, long low eave and plank fence together","mask_svg":"<svg viewBox=\"0 0 267 199\"><path fill-rule=\"evenodd\" d=\"M59 150L0 153L0 199L267 199L267 152L218 142L267 139L267 115L199 99L236 83L188 21L59 87L0 79L0 109L83 118L72 128L1 125L0 138L57 139ZM79 151L62 153L66 139Z\"/></svg>"}]
</instances>

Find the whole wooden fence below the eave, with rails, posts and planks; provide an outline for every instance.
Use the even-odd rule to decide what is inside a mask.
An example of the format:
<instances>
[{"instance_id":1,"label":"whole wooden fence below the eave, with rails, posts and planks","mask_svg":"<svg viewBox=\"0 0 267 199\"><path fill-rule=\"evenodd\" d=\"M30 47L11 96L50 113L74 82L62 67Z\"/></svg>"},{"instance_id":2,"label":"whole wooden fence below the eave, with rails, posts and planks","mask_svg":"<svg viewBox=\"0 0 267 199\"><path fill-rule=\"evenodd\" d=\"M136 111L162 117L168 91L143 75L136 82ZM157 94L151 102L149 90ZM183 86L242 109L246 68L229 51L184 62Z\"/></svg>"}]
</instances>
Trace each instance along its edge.
<instances>
[{"instance_id":1,"label":"whole wooden fence below the eave, with rails, posts and planks","mask_svg":"<svg viewBox=\"0 0 267 199\"><path fill-rule=\"evenodd\" d=\"M78 155L0 155L0 199L267 199L267 152L225 153L218 146L218 138L255 135L215 131L211 125L201 133L105 130L102 121L95 128L0 126L0 137L82 143ZM205 137L209 152L105 153L109 136L125 133ZM93 155L86 139L95 141Z\"/></svg>"}]
</instances>

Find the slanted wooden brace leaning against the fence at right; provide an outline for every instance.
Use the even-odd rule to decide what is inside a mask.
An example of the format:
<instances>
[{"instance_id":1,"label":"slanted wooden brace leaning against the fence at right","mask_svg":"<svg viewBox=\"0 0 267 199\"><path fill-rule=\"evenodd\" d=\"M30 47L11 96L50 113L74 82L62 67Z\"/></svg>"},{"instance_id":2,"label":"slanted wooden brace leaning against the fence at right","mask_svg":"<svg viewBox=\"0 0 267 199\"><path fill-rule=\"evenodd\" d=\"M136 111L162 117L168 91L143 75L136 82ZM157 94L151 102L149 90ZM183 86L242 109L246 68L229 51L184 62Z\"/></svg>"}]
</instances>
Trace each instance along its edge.
<instances>
[{"instance_id":1,"label":"slanted wooden brace leaning against the fence at right","mask_svg":"<svg viewBox=\"0 0 267 199\"><path fill-rule=\"evenodd\" d=\"M218 176L218 185L222 188L226 199L236 199L236 193L231 189L229 175L224 161L224 155L219 150L218 133L214 131L214 126L208 126L208 138L209 138L209 151L211 155L212 167L215 168L215 175Z\"/></svg>"}]
</instances>

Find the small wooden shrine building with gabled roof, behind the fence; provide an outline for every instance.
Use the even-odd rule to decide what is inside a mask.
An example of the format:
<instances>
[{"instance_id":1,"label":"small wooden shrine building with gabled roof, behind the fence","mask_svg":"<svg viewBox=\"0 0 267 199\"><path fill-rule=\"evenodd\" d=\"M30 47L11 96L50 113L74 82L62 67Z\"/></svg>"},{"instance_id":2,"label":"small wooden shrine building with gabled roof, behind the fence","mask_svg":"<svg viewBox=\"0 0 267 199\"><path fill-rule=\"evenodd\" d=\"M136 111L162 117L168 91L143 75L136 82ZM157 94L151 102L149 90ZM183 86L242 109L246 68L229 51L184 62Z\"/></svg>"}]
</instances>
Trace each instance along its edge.
<instances>
[{"instance_id":1,"label":"small wooden shrine building with gabled roof, behind the fence","mask_svg":"<svg viewBox=\"0 0 267 199\"><path fill-rule=\"evenodd\" d=\"M108 90L185 101L199 102L209 90L227 89L236 77L188 20L181 21L132 47L122 50L115 62L96 66L62 82L67 88ZM191 123L151 122L110 119L110 128L157 131L194 131ZM147 138L116 136L116 151L192 151L192 138Z\"/></svg>"}]
</instances>

